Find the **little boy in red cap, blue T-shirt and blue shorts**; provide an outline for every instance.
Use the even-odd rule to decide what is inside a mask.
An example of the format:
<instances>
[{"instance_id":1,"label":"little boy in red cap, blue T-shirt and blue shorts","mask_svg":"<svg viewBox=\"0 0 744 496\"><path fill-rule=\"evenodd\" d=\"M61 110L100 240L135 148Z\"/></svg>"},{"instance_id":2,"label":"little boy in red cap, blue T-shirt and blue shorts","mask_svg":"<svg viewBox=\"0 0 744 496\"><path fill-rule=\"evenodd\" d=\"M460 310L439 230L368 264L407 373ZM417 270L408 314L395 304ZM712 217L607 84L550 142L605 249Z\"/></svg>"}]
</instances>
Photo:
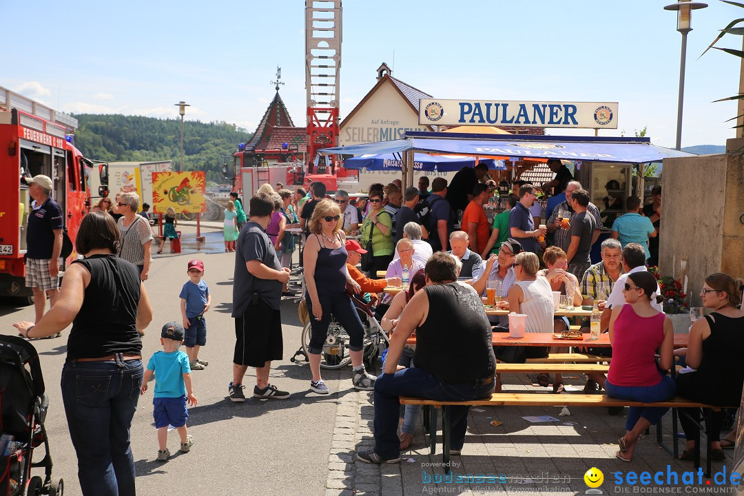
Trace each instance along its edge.
<instances>
[{"instance_id":1,"label":"little boy in red cap, blue T-shirt and blue shorts","mask_svg":"<svg viewBox=\"0 0 744 496\"><path fill-rule=\"evenodd\" d=\"M188 263L189 280L181 289L181 318L186 329L184 344L191 370L204 370L208 361L199 360L199 348L207 344L205 312L212 302L207 283L202 280L204 262L195 258Z\"/></svg>"}]
</instances>

